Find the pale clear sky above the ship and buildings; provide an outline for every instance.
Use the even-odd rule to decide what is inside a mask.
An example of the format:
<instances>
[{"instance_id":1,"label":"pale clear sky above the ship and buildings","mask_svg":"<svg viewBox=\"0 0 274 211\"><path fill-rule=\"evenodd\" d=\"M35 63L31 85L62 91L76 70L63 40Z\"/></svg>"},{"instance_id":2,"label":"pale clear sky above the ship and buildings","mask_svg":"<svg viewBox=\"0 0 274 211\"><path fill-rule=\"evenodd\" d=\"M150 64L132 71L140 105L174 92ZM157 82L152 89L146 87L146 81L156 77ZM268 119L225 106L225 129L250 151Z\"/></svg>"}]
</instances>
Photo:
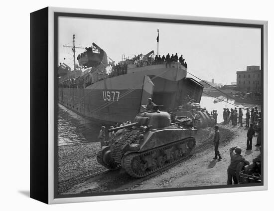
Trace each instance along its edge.
<instances>
[{"instance_id":1,"label":"pale clear sky above the ship and buildings","mask_svg":"<svg viewBox=\"0 0 274 211\"><path fill-rule=\"evenodd\" d=\"M182 54L188 72L203 80L214 78L215 83L231 84L236 82L237 71L246 70L250 65L261 67L259 28L82 17L59 17L58 21L58 59L71 68L72 49L63 45L72 46L73 34L76 46L88 47L95 42L118 63L123 54L131 58L151 50L157 53L157 29L159 54ZM76 49L76 56L83 51Z\"/></svg>"}]
</instances>

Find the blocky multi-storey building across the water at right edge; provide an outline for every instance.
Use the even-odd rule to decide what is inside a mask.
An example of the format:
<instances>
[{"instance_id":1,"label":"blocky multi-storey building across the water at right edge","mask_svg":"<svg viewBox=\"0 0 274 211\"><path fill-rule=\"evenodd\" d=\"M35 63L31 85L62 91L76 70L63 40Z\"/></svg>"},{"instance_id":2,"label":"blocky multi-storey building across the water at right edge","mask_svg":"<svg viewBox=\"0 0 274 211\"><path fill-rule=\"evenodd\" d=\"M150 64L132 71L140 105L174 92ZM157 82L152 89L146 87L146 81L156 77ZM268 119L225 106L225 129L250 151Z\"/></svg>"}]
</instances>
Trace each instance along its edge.
<instances>
[{"instance_id":1,"label":"blocky multi-storey building across the water at right edge","mask_svg":"<svg viewBox=\"0 0 274 211\"><path fill-rule=\"evenodd\" d=\"M237 71L237 86L245 92L261 92L260 66L247 66L247 70Z\"/></svg>"}]
</instances>

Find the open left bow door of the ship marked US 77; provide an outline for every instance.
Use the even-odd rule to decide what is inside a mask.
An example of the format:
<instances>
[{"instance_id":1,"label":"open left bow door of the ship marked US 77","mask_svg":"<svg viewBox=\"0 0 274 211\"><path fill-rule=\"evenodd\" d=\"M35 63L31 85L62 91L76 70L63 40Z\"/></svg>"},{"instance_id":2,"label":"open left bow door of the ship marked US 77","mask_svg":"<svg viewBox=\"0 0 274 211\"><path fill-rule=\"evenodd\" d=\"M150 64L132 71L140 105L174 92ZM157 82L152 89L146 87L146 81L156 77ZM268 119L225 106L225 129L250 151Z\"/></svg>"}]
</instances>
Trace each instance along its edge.
<instances>
[{"instance_id":1,"label":"open left bow door of the ship marked US 77","mask_svg":"<svg viewBox=\"0 0 274 211\"><path fill-rule=\"evenodd\" d=\"M142 85L142 93L141 93L141 102L140 102L140 109L144 110L147 104L147 99L152 96L154 84L152 80L145 75L143 78L143 85Z\"/></svg>"}]
</instances>

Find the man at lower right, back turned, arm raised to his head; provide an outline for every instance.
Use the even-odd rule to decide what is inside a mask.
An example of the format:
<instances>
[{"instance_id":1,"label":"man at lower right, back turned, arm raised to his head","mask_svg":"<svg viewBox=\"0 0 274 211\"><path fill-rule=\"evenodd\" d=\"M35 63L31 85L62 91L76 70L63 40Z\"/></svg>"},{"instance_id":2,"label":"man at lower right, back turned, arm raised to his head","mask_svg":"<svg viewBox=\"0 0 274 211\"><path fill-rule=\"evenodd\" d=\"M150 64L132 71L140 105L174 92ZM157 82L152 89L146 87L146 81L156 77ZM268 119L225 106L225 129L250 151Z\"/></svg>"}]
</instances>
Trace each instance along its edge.
<instances>
[{"instance_id":1,"label":"man at lower right, back turned, arm raised to his head","mask_svg":"<svg viewBox=\"0 0 274 211\"><path fill-rule=\"evenodd\" d=\"M235 154L233 151L235 150ZM242 149L240 147L232 147L229 150L230 153L230 165L227 169L227 184L232 185L232 179L234 184L238 184L236 170L240 162L243 162L245 165L249 165L249 162L241 156Z\"/></svg>"}]
</instances>

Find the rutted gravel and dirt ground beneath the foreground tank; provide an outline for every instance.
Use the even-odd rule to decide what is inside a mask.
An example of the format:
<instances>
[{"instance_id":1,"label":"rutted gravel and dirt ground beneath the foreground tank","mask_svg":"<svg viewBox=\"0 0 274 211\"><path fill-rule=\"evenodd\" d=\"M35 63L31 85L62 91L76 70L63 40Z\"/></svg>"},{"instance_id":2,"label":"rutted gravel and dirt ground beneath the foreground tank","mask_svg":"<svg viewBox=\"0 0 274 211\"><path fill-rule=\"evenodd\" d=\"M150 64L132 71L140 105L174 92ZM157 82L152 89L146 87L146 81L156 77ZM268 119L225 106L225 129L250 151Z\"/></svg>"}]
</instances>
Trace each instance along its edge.
<instances>
[{"instance_id":1,"label":"rutted gravel and dirt ground beneath the foreground tank","mask_svg":"<svg viewBox=\"0 0 274 211\"><path fill-rule=\"evenodd\" d=\"M201 187L226 185L227 167L230 163L229 149L240 146L248 160L259 155L258 148L246 151L245 127L220 125L219 151L221 161L213 160L212 128L200 129L195 136L197 146L192 157L173 165L165 171L141 179L127 175L123 170L108 171L96 161L99 143L77 144L59 147L60 194L98 193L126 190L147 190L177 187ZM257 137L253 138L253 146Z\"/></svg>"}]
</instances>

